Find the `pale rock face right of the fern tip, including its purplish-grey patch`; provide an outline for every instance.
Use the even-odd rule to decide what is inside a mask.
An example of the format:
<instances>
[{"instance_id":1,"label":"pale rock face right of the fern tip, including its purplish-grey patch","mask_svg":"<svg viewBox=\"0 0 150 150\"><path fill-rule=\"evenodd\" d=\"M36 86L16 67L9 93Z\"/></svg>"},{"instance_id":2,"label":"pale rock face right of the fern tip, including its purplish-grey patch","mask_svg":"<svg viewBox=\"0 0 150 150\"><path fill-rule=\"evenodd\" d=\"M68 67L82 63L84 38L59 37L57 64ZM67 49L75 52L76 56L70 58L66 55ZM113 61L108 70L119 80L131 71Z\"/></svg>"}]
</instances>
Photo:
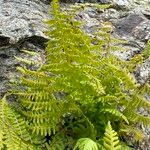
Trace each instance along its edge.
<instances>
[{"instance_id":1,"label":"pale rock face right of the fern tip, including its purplish-grey patch","mask_svg":"<svg viewBox=\"0 0 150 150\"><path fill-rule=\"evenodd\" d=\"M134 4L134 3L133 3ZM94 8L87 8L79 13L82 21L85 21L85 30L91 33L94 27L103 21L110 21L114 26L114 37L129 41L124 45L127 50L114 54L124 60L130 60L145 48L150 39L150 11L146 8L135 6L130 10L110 8L104 12L98 12ZM150 74L150 57L137 68L135 76L143 83Z\"/></svg>"}]
</instances>

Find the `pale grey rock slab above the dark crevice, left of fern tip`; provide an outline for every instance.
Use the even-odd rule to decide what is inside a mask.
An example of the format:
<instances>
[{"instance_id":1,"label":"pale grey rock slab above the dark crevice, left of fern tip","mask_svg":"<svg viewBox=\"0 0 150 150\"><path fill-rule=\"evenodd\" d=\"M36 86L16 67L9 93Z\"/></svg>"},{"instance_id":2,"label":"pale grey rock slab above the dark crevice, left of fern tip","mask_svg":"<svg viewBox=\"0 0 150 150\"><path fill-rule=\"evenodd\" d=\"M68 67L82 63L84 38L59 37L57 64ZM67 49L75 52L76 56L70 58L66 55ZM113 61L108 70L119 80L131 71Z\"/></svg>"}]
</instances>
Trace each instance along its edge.
<instances>
[{"instance_id":1,"label":"pale grey rock slab above the dark crevice, left of fern tip","mask_svg":"<svg viewBox=\"0 0 150 150\"><path fill-rule=\"evenodd\" d=\"M32 36L46 38L42 21L49 18L48 9L39 0L0 0L0 46Z\"/></svg>"}]
</instances>

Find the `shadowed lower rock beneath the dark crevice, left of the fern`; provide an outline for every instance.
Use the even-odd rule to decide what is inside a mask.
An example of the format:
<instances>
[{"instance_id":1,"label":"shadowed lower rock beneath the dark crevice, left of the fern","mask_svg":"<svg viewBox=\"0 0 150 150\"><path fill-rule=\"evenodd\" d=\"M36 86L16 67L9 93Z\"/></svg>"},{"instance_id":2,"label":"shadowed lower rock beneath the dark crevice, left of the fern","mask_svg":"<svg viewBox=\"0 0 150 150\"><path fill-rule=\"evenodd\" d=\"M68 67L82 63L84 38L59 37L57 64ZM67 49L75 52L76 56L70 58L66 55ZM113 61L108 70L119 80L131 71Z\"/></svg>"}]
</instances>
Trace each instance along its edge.
<instances>
[{"instance_id":1,"label":"shadowed lower rock beneath the dark crevice, left of the fern","mask_svg":"<svg viewBox=\"0 0 150 150\"><path fill-rule=\"evenodd\" d=\"M36 51L37 55L31 56L21 52L24 49ZM15 59L15 56L39 64L39 62L44 63L45 61L43 53L44 49L40 45L32 44L30 41L24 41L20 45L13 45L0 50L0 98L10 89L9 82L18 76L16 67L23 65Z\"/></svg>"}]
</instances>

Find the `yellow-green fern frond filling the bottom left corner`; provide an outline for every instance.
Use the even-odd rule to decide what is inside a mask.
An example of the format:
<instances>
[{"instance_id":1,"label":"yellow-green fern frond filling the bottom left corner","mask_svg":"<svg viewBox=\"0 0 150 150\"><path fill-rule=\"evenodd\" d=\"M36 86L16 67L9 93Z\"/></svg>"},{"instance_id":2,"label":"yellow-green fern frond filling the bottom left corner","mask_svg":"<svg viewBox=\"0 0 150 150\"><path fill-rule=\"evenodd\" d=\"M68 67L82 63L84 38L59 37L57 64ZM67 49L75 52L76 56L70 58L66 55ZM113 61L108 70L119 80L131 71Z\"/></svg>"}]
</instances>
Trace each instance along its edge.
<instances>
[{"instance_id":1,"label":"yellow-green fern frond filling the bottom left corner","mask_svg":"<svg viewBox=\"0 0 150 150\"><path fill-rule=\"evenodd\" d=\"M0 101L0 149L33 150L36 145L27 130L27 123L6 102Z\"/></svg>"}]
</instances>

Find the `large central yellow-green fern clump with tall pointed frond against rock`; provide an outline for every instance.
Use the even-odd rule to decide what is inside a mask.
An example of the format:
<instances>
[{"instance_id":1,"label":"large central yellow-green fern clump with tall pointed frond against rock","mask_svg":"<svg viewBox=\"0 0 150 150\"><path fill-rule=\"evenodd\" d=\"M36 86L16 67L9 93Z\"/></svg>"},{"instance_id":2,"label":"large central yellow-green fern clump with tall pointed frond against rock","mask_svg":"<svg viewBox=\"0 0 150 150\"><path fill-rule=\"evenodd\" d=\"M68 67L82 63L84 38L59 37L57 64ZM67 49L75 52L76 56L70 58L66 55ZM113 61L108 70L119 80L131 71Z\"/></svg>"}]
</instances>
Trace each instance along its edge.
<instances>
[{"instance_id":1,"label":"large central yellow-green fern clump with tall pointed frond against rock","mask_svg":"<svg viewBox=\"0 0 150 150\"><path fill-rule=\"evenodd\" d=\"M58 7L56 3L53 6ZM111 50L118 50L118 47L112 45L117 39L112 39L108 33L110 25L104 24L98 35L102 38L98 40L98 45L92 45L93 39L82 33L79 23L68 19L73 16L60 13L58 9L53 14L54 19L47 22L52 29L47 33L50 37L46 49L47 63L36 72L19 68L29 76L22 78L22 83L30 90L19 92L18 95L25 97L23 105L30 104L29 112L36 108L34 111L38 113L36 117L35 114L29 114L29 118L34 120L34 126L40 123L40 128L34 127L34 132L45 135L47 132L51 134L52 130L55 133L62 114L72 110L80 113L82 110L100 132L104 132L104 128L100 129L99 126L104 127L108 120L112 121L116 129L118 126L128 128L130 126L127 124L138 121L147 125L149 118L136 114L136 109L141 105L149 107L149 102L143 100L142 93L139 94L136 81L125 63L110 53ZM54 95L57 92L69 94L58 101ZM118 107L124 110L120 111ZM40 116L39 110L42 112L43 109L44 116ZM44 119L48 114L52 115L49 118L52 117L53 122ZM41 123L45 122L53 125L43 124L42 127Z\"/></svg>"}]
</instances>

